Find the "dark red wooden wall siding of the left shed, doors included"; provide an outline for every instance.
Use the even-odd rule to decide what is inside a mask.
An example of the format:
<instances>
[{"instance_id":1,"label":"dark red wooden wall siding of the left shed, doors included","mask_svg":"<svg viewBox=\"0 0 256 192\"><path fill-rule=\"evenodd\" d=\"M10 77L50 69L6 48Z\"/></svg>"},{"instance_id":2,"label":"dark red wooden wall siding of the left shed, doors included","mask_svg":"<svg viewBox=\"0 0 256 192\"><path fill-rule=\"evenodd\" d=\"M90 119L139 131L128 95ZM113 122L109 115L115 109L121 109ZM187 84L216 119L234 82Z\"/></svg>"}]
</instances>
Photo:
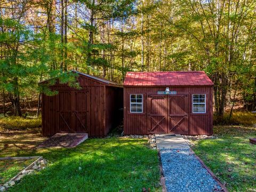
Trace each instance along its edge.
<instances>
[{"instance_id":1,"label":"dark red wooden wall siding of the left shed, doors included","mask_svg":"<svg viewBox=\"0 0 256 192\"><path fill-rule=\"evenodd\" d=\"M104 137L109 132L111 125L106 121L106 101L108 108L111 108L111 101L106 97L106 85L85 76L79 76L78 82L81 90L57 83L52 90L58 90L59 94L42 95L42 131L45 136L60 131L84 132L84 127L89 137ZM60 111L63 111L62 117ZM111 115L111 111L109 113Z\"/></svg>"}]
</instances>

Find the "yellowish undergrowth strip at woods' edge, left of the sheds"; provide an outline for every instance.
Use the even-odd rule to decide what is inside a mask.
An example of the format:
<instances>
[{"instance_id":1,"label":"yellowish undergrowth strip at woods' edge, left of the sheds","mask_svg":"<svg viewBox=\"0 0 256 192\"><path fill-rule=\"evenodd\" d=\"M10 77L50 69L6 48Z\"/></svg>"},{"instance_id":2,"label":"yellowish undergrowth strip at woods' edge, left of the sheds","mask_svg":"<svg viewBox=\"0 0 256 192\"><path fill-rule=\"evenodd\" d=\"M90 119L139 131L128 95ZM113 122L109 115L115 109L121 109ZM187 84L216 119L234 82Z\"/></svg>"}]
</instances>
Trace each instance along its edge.
<instances>
[{"instance_id":1,"label":"yellowish undergrowth strip at woods' edge, left of the sheds","mask_svg":"<svg viewBox=\"0 0 256 192\"><path fill-rule=\"evenodd\" d=\"M1 116L0 131L41 127L41 117Z\"/></svg>"}]
</instances>

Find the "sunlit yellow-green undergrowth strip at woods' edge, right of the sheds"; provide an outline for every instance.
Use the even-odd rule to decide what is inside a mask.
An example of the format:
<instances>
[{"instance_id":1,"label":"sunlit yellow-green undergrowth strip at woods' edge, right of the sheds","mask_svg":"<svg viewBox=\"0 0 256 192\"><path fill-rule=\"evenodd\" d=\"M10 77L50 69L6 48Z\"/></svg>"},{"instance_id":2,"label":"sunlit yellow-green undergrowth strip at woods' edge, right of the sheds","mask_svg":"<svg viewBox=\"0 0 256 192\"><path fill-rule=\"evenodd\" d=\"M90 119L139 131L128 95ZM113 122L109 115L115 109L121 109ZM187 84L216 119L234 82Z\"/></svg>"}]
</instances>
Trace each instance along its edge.
<instances>
[{"instance_id":1,"label":"sunlit yellow-green undergrowth strip at woods' edge, right of the sheds","mask_svg":"<svg viewBox=\"0 0 256 192\"><path fill-rule=\"evenodd\" d=\"M256 114L250 112L234 112L229 118L229 113L223 117L214 116L214 125L254 125L256 124Z\"/></svg>"}]
</instances>

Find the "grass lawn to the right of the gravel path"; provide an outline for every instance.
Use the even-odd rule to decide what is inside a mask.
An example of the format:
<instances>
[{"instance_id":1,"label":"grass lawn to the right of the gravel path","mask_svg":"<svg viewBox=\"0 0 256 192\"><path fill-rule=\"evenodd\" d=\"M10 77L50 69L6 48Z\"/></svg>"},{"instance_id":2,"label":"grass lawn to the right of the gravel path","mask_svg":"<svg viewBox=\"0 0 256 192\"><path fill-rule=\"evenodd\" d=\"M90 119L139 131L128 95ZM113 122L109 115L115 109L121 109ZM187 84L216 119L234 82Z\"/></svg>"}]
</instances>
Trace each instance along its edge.
<instances>
[{"instance_id":1,"label":"grass lawn to the right of the gravel path","mask_svg":"<svg viewBox=\"0 0 256 192\"><path fill-rule=\"evenodd\" d=\"M229 191L256 191L256 128L215 126L218 139L194 141L193 150Z\"/></svg>"}]
</instances>

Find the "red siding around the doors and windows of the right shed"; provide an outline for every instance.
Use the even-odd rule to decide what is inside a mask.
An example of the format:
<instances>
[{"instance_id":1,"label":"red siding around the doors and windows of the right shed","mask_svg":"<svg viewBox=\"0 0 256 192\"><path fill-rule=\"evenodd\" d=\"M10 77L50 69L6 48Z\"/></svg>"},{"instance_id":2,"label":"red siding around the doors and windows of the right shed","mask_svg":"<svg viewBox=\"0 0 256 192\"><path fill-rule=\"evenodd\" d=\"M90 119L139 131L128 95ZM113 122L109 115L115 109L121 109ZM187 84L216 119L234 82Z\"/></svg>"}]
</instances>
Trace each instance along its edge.
<instances>
[{"instance_id":1,"label":"red siding around the doors and windows of the right shed","mask_svg":"<svg viewBox=\"0 0 256 192\"><path fill-rule=\"evenodd\" d=\"M124 133L125 134L149 134L149 116L147 97L150 93L157 94L157 91L165 91L166 86L125 86L124 87ZM177 94L187 94L188 106L188 134L212 134L212 86L169 86L170 91L177 91ZM131 114L130 94L143 94L143 113ZM192 113L192 94L206 94L206 114Z\"/></svg>"}]
</instances>

